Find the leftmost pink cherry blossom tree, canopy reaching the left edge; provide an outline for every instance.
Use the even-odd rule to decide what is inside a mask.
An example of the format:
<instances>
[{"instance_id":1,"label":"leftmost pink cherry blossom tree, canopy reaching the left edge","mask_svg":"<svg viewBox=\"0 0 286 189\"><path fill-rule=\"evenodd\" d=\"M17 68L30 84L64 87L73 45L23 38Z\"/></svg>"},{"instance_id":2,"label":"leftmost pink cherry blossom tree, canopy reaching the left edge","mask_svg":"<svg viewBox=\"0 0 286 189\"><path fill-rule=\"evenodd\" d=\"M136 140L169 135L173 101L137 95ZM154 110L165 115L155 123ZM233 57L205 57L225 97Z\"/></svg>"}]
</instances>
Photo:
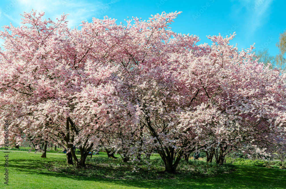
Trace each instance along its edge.
<instances>
[{"instance_id":1,"label":"leftmost pink cherry blossom tree, canopy reaching the left edge","mask_svg":"<svg viewBox=\"0 0 286 189\"><path fill-rule=\"evenodd\" d=\"M9 120L10 135L16 136L17 142L25 135L34 143L43 139L69 149L83 130L70 114L73 95L82 90L79 83L85 85L81 66L86 52L72 41L67 15L57 22L42 20L43 15L24 13L21 27L10 24L1 32L5 40L5 51L1 51L1 119ZM84 157L92 142L85 140L80 145ZM69 164L73 163L72 155L76 157L67 153Z\"/></svg>"}]
</instances>

